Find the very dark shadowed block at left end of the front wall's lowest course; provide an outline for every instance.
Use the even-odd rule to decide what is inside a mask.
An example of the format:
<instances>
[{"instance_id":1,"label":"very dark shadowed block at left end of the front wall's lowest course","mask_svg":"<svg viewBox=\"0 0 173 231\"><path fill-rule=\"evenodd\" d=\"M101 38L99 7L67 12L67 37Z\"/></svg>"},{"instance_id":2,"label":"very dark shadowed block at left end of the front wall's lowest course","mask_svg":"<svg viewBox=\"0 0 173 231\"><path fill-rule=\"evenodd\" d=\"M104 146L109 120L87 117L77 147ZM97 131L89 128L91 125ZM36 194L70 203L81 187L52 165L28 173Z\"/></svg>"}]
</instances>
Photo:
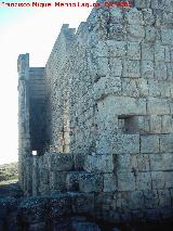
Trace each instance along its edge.
<instances>
[{"instance_id":1,"label":"very dark shadowed block at left end of the front wall's lowest course","mask_svg":"<svg viewBox=\"0 0 173 231\"><path fill-rule=\"evenodd\" d=\"M93 193L74 193L69 192L71 198L71 209L75 214L92 214L94 211Z\"/></svg>"}]
</instances>

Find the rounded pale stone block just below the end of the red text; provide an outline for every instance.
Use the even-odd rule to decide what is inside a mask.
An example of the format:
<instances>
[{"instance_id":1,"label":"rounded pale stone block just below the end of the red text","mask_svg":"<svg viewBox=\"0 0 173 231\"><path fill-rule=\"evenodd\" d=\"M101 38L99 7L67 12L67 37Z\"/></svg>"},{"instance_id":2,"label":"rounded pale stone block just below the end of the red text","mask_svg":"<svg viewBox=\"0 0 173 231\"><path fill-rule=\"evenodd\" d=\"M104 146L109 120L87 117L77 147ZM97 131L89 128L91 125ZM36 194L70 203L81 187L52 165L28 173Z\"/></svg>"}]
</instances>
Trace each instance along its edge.
<instances>
[{"instance_id":1,"label":"rounded pale stone block just below the end of the red text","mask_svg":"<svg viewBox=\"0 0 173 231\"><path fill-rule=\"evenodd\" d=\"M144 25L143 13L135 8L130 8L125 11L124 17L128 24Z\"/></svg>"}]
</instances>

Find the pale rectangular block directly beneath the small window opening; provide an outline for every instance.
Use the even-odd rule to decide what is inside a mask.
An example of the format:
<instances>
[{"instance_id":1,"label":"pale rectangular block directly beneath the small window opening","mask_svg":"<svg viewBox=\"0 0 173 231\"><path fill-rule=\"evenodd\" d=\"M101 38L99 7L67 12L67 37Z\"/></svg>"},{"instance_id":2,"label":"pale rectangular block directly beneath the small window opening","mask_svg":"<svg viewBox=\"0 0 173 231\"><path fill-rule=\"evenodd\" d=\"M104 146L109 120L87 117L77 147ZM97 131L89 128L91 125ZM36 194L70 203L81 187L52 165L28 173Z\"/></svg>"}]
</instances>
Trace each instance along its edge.
<instances>
[{"instance_id":1,"label":"pale rectangular block directly beneath the small window opening","mask_svg":"<svg viewBox=\"0 0 173 231\"><path fill-rule=\"evenodd\" d=\"M139 153L139 134L116 134L112 138L112 153Z\"/></svg>"}]
</instances>

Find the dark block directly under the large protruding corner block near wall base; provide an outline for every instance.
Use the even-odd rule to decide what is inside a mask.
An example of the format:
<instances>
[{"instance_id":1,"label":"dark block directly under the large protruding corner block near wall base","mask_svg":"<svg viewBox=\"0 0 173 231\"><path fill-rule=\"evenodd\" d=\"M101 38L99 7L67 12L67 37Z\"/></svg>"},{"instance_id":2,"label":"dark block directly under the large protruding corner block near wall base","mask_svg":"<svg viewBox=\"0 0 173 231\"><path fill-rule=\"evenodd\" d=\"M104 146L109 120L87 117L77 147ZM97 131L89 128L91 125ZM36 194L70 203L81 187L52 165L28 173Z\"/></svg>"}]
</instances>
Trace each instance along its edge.
<instances>
[{"instance_id":1,"label":"dark block directly under the large protruding corner block near wall base","mask_svg":"<svg viewBox=\"0 0 173 231\"><path fill-rule=\"evenodd\" d=\"M103 191L103 176L96 174L81 174L79 177L80 192L102 192Z\"/></svg>"}]
</instances>

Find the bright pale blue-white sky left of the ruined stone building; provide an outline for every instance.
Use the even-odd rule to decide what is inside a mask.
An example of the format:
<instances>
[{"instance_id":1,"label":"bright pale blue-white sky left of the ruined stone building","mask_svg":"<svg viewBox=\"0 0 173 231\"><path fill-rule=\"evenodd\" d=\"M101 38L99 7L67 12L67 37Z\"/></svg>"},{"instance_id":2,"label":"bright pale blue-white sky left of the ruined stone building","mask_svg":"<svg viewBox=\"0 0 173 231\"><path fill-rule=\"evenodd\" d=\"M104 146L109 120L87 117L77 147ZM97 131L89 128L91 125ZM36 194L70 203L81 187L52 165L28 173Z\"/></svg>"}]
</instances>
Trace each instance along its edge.
<instances>
[{"instance_id":1,"label":"bright pale blue-white sky left of the ruined stone building","mask_svg":"<svg viewBox=\"0 0 173 231\"><path fill-rule=\"evenodd\" d=\"M30 66L44 66L62 24L77 28L90 11L0 8L0 164L17 159L18 54L30 53Z\"/></svg>"}]
</instances>

